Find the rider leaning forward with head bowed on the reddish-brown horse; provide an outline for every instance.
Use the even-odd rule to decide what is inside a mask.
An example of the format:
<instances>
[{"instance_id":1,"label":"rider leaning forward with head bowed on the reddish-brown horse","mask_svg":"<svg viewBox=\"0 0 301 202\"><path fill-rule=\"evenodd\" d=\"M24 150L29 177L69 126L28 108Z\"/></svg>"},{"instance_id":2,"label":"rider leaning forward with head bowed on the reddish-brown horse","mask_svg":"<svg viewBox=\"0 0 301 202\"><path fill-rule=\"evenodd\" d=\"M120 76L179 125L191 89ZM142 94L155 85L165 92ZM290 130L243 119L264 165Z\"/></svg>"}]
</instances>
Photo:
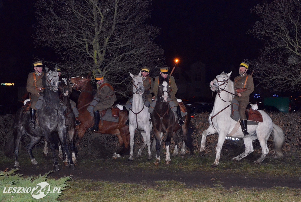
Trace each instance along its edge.
<instances>
[{"instance_id":1,"label":"rider leaning forward with head bowed on the reddish-brown horse","mask_svg":"<svg viewBox=\"0 0 301 202\"><path fill-rule=\"evenodd\" d=\"M105 110L111 107L115 101L117 101L113 87L104 78L104 73L98 70L99 73L95 75L97 80L97 92L93 101L88 106L87 110L92 113L94 112L94 123L95 125L88 128L90 131L98 131L98 124L100 121L99 111Z\"/></svg>"}]
</instances>

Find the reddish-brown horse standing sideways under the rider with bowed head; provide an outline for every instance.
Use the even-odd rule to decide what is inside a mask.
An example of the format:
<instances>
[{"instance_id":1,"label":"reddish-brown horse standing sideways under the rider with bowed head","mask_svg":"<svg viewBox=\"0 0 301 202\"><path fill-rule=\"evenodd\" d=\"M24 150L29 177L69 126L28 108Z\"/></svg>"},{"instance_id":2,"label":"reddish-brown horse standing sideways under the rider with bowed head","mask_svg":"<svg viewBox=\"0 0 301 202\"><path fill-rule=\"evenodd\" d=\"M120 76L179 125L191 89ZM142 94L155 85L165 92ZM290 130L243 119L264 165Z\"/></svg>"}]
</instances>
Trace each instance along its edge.
<instances>
[{"instance_id":1,"label":"reddish-brown horse standing sideways under the rider with bowed head","mask_svg":"<svg viewBox=\"0 0 301 202\"><path fill-rule=\"evenodd\" d=\"M70 78L70 83L73 83L73 89L81 91L78 101L77 109L79 111L79 121L80 125L76 126L78 132L78 138L76 140L75 146L78 148L79 142L84 136L86 130L94 124L94 117L90 115L87 107L93 100L92 90L93 85L91 83L91 75L72 77ZM126 125L126 120L128 119L128 113L126 110L120 110L119 121L110 122L102 120L100 121L97 133L101 134L114 134L118 137L120 148L116 153L114 153L113 158L119 158L124 153L128 152L130 149L130 133L129 126Z\"/></svg>"}]
</instances>

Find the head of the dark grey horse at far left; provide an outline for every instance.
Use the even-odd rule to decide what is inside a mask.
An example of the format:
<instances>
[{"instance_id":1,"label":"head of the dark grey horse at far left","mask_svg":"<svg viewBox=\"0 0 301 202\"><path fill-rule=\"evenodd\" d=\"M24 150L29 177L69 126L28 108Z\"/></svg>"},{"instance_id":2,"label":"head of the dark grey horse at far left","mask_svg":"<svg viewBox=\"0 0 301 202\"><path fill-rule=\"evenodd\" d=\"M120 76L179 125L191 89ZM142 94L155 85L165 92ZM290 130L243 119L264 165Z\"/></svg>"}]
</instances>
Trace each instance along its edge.
<instances>
[{"instance_id":1,"label":"head of the dark grey horse at far left","mask_svg":"<svg viewBox=\"0 0 301 202\"><path fill-rule=\"evenodd\" d=\"M48 68L45 66L45 74L43 77L43 86L45 88L50 88L54 92L57 92L58 86L60 85L58 72L57 72L57 65L54 68Z\"/></svg>"}]
</instances>

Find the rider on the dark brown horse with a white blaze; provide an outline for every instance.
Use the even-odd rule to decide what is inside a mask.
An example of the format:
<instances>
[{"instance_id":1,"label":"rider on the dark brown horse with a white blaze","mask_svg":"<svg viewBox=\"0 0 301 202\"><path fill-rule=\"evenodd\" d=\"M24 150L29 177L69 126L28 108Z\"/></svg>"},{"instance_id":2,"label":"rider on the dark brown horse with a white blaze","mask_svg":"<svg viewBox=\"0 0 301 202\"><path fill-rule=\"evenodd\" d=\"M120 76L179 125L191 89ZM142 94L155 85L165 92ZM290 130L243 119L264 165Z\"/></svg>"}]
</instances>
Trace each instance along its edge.
<instances>
[{"instance_id":1,"label":"rider on the dark brown horse with a white blaze","mask_svg":"<svg viewBox=\"0 0 301 202\"><path fill-rule=\"evenodd\" d=\"M153 90L153 92L154 92L155 97L157 97L157 95L158 95L159 77L162 77L162 78L166 79L168 77L168 74L169 74L169 71L168 71L167 66L163 66L162 68L160 68L160 75L157 76L155 78L155 81L154 81L154 90ZM175 84L175 78L173 76L169 76L169 86L170 86L170 98L172 100L172 101L168 101L169 106L171 107L171 109L173 111L177 112L179 125L184 125L184 121L181 118L180 106L179 106L179 103L177 101L177 98L175 98L175 94L178 91L178 87L177 87L177 84ZM155 102L153 102L153 103L155 103ZM149 112L153 112L153 110L154 110L154 106L151 105Z\"/></svg>"}]
</instances>

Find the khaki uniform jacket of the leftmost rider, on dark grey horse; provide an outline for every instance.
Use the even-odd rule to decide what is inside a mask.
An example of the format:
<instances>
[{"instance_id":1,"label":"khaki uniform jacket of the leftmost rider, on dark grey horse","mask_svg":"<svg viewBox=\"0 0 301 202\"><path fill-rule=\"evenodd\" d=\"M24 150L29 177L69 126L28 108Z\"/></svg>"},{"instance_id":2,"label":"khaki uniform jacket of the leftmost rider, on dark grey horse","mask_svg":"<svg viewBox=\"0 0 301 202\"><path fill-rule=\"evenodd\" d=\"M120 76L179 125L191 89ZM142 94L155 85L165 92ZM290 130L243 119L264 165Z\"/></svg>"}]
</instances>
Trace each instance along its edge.
<instances>
[{"instance_id":1,"label":"khaki uniform jacket of the leftmost rider, on dark grey horse","mask_svg":"<svg viewBox=\"0 0 301 202\"><path fill-rule=\"evenodd\" d=\"M34 74L36 75L36 81L34 79ZM39 92L43 92L44 89L39 91L39 87L43 87L42 85L42 78L44 76L44 72L41 73L40 76L36 74L36 72L32 72L28 74L27 83L26 83L26 90L30 93L30 101L31 101L31 108L36 110L36 102L38 101L40 94Z\"/></svg>"}]
</instances>

